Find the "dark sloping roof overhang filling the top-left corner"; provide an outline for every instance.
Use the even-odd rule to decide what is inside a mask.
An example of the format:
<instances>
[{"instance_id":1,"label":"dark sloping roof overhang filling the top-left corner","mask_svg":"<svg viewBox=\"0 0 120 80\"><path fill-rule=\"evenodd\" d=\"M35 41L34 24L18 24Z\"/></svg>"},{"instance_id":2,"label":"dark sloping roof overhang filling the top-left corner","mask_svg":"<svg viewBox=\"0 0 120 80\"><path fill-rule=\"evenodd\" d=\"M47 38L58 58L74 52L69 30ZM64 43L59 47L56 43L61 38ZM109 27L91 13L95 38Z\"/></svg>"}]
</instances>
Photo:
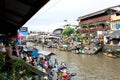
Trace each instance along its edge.
<instances>
[{"instance_id":1,"label":"dark sloping roof overhang filling the top-left corner","mask_svg":"<svg viewBox=\"0 0 120 80\"><path fill-rule=\"evenodd\" d=\"M0 34L16 33L49 0L0 0Z\"/></svg>"}]
</instances>

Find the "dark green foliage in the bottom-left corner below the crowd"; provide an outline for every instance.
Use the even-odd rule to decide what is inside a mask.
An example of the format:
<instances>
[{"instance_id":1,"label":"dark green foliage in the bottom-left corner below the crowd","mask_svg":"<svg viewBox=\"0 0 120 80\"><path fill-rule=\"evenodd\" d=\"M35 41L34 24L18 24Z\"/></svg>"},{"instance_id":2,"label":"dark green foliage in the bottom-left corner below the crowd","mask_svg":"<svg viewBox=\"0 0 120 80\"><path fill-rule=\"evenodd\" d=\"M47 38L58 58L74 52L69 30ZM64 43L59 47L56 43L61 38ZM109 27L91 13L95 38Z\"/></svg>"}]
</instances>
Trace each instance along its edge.
<instances>
[{"instance_id":1,"label":"dark green foliage in the bottom-left corner below the crowd","mask_svg":"<svg viewBox=\"0 0 120 80\"><path fill-rule=\"evenodd\" d=\"M5 64L11 64L7 65L10 69L2 71L2 69L5 67ZM0 80L19 80L20 78L28 75L32 75L31 73L32 69L28 67L28 64L24 62L22 59L9 59L5 60L5 55L0 55ZM22 74L20 73L22 72Z\"/></svg>"}]
</instances>

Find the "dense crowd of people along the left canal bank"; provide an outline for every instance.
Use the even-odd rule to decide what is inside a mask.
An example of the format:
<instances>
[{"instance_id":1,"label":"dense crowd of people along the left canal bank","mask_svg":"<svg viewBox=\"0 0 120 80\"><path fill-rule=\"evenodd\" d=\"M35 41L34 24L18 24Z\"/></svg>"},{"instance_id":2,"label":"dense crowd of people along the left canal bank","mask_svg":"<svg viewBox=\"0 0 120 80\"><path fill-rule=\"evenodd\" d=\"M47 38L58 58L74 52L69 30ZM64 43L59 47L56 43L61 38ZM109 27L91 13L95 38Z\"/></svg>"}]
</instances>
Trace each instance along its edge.
<instances>
[{"instance_id":1,"label":"dense crowd of people along the left canal bank","mask_svg":"<svg viewBox=\"0 0 120 80\"><path fill-rule=\"evenodd\" d=\"M56 55L45 56L40 55L38 49L33 46L18 46L16 43L11 46L9 44L5 44L2 46L1 50L2 54L6 54L6 56L16 56L18 58L23 59L25 62L32 65L34 68L49 74L46 79L51 80L61 80L64 78L68 80L67 67L65 64L58 64ZM38 75L40 76L40 75Z\"/></svg>"}]
</instances>

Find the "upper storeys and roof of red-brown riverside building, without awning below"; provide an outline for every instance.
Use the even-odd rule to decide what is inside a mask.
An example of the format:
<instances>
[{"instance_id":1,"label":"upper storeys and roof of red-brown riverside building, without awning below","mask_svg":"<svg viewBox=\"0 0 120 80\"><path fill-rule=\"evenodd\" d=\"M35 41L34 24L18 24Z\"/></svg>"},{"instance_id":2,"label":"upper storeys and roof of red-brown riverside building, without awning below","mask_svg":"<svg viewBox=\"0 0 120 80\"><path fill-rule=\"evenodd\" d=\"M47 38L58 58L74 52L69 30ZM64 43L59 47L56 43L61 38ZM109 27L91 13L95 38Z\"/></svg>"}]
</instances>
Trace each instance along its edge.
<instances>
[{"instance_id":1,"label":"upper storeys and roof of red-brown riverside building, without awning below","mask_svg":"<svg viewBox=\"0 0 120 80\"><path fill-rule=\"evenodd\" d=\"M116 30L120 28L120 5L109 7L78 18L80 33Z\"/></svg>"}]
</instances>

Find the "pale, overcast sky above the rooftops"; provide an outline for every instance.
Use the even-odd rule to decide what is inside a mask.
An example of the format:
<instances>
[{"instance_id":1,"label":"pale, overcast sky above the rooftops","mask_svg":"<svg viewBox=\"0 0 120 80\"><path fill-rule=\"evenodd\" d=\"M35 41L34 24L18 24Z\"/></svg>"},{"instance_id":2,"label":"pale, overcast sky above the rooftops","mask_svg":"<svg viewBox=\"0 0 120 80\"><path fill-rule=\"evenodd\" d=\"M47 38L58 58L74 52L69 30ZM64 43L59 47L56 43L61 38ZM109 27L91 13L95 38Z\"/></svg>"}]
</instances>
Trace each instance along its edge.
<instances>
[{"instance_id":1,"label":"pale, overcast sky above the rooftops","mask_svg":"<svg viewBox=\"0 0 120 80\"><path fill-rule=\"evenodd\" d=\"M120 0L50 0L23 27L52 32L64 24L78 25L80 16L116 5L120 5Z\"/></svg>"}]
</instances>

